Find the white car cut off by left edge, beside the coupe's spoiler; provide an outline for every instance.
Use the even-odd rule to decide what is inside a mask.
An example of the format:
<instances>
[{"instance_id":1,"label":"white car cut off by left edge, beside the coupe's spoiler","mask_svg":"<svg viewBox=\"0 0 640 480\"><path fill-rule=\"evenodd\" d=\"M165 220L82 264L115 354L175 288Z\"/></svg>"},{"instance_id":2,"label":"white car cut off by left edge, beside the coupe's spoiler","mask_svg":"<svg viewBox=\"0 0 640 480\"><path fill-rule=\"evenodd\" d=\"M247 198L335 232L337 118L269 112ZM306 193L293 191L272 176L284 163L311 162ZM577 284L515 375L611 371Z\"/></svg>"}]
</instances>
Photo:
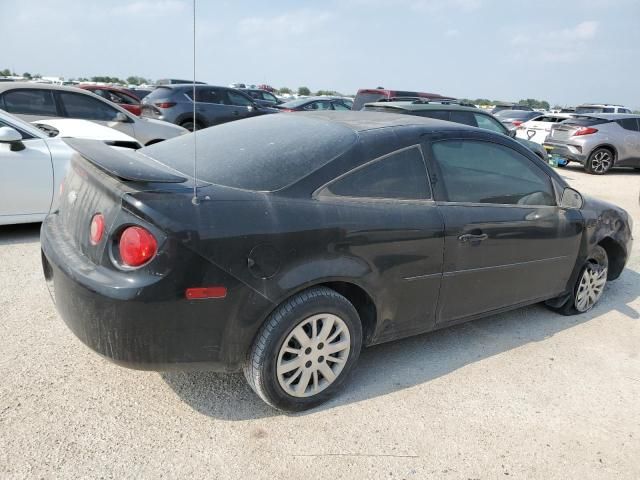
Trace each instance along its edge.
<instances>
[{"instance_id":1,"label":"white car cut off by left edge, beside the coupe's spoiler","mask_svg":"<svg viewBox=\"0 0 640 480\"><path fill-rule=\"evenodd\" d=\"M76 153L63 135L102 140L114 148L138 145L86 120L48 120L43 125L48 132L55 128L56 136L0 110L0 225L41 222L47 216Z\"/></svg>"}]
</instances>

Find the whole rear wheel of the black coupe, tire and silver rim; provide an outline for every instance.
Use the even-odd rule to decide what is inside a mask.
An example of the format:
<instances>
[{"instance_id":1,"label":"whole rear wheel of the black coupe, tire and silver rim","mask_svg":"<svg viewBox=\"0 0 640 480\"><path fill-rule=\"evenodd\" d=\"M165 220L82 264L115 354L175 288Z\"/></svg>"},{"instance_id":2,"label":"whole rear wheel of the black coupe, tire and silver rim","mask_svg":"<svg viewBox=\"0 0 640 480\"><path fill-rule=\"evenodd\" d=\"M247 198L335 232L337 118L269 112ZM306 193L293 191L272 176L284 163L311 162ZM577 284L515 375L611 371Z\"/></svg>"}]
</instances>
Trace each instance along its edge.
<instances>
[{"instance_id":1,"label":"whole rear wheel of the black coupe, tire and silver rim","mask_svg":"<svg viewBox=\"0 0 640 480\"><path fill-rule=\"evenodd\" d=\"M244 375L267 404L299 412L335 395L361 347L362 325L354 306L334 290L316 287L269 316L247 355Z\"/></svg>"}]
</instances>

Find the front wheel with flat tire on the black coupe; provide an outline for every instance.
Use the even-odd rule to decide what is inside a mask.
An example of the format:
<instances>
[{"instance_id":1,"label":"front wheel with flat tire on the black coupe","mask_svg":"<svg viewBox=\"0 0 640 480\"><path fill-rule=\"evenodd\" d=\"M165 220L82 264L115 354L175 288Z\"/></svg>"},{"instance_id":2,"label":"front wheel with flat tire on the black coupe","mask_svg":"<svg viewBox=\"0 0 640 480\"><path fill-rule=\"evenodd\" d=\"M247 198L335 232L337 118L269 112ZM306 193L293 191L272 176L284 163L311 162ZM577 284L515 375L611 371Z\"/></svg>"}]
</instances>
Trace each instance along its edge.
<instances>
[{"instance_id":1,"label":"front wheel with flat tire on the black coupe","mask_svg":"<svg viewBox=\"0 0 640 480\"><path fill-rule=\"evenodd\" d=\"M607 252L601 246L596 246L582 266L571 296L563 305L550 308L562 315L578 315L591 310L602 298L608 267Z\"/></svg>"}]
</instances>

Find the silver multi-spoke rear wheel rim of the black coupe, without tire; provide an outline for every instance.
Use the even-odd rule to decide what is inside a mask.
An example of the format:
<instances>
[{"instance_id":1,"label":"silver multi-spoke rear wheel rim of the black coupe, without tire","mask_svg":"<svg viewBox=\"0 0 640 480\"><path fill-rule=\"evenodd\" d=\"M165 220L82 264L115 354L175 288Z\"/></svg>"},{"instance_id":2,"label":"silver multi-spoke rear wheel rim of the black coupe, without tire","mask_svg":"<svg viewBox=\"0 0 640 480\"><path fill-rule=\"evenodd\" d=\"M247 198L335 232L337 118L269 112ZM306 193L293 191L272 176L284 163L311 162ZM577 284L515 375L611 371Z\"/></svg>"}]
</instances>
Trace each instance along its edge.
<instances>
[{"instance_id":1,"label":"silver multi-spoke rear wheel rim of the black coupe, without tire","mask_svg":"<svg viewBox=\"0 0 640 480\"><path fill-rule=\"evenodd\" d=\"M280 387L293 397L311 397L329 387L344 369L351 335L344 320L321 313L306 318L287 336L276 364Z\"/></svg>"}]
</instances>

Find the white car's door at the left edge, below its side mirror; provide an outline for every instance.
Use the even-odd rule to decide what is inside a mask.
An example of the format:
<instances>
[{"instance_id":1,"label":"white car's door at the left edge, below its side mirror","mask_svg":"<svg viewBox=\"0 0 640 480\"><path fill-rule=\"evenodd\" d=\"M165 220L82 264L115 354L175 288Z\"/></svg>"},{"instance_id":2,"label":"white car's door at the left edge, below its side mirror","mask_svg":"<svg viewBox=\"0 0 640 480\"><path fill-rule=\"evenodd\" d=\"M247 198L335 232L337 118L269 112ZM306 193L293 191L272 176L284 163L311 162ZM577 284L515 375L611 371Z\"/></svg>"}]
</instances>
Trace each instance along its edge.
<instances>
[{"instance_id":1,"label":"white car's door at the left edge, below its side mirror","mask_svg":"<svg viewBox=\"0 0 640 480\"><path fill-rule=\"evenodd\" d=\"M0 121L3 126L15 128ZM53 198L53 164L46 142L19 131L23 149L0 143L0 224L29 216L42 220L37 217L49 212ZM10 216L18 220L7 221Z\"/></svg>"}]
</instances>

